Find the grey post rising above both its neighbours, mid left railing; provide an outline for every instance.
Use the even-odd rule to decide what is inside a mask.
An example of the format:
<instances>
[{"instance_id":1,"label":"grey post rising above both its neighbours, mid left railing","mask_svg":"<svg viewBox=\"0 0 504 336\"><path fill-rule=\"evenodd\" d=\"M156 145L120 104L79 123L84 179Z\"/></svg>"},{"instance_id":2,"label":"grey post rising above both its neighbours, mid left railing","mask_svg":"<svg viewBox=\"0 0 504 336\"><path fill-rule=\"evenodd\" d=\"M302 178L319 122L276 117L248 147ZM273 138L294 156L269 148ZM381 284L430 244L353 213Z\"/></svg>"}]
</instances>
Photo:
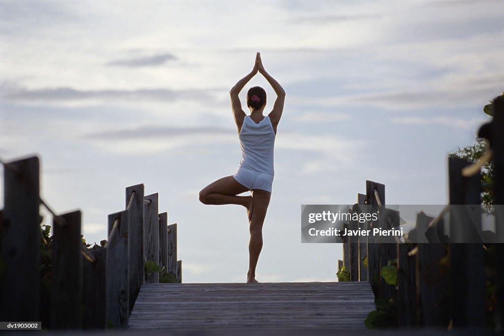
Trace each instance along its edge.
<instances>
[{"instance_id":1,"label":"grey post rising above both its neighbours, mid left railing","mask_svg":"<svg viewBox=\"0 0 504 336\"><path fill-rule=\"evenodd\" d=\"M126 188L126 210L128 210L128 246L130 276L130 312L144 283L144 185Z\"/></svg>"}]
</instances>

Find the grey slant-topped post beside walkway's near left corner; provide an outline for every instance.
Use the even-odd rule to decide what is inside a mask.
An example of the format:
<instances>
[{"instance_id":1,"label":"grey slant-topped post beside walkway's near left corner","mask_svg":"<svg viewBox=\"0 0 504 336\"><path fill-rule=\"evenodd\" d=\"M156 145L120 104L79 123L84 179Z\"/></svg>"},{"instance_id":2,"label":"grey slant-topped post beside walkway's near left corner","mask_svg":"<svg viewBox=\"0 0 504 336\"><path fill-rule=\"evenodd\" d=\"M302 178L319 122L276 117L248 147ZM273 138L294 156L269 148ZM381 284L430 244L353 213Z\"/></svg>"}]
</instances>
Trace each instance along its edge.
<instances>
[{"instance_id":1,"label":"grey slant-topped post beside walkway's near left corner","mask_svg":"<svg viewBox=\"0 0 504 336\"><path fill-rule=\"evenodd\" d=\"M127 327L129 316L128 277L128 211L108 215L111 232L105 247L106 265L106 323Z\"/></svg>"}]
</instances>

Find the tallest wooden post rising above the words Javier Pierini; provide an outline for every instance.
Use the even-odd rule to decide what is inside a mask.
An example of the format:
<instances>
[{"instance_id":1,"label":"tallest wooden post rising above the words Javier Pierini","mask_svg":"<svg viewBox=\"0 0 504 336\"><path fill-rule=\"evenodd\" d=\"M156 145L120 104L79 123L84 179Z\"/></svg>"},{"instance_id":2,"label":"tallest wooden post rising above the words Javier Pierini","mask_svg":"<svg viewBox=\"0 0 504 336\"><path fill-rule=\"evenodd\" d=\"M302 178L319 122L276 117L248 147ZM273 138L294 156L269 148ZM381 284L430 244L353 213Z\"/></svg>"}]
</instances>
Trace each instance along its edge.
<instances>
[{"instance_id":1,"label":"tallest wooden post rising above the words Javier Pierini","mask_svg":"<svg viewBox=\"0 0 504 336\"><path fill-rule=\"evenodd\" d=\"M375 192L376 191L376 192ZM366 204L369 206L369 211L372 209L378 210L379 203L375 195L380 198L380 203L385 205L385 184L366 181ZM367 229L372 230L379 227L379 221L369 221ZM382 298L381 279L382 270L380 260L380 237L371 235L367 239L367 272L368 279L376 298Z\"/></svg>"}]
</instances>

